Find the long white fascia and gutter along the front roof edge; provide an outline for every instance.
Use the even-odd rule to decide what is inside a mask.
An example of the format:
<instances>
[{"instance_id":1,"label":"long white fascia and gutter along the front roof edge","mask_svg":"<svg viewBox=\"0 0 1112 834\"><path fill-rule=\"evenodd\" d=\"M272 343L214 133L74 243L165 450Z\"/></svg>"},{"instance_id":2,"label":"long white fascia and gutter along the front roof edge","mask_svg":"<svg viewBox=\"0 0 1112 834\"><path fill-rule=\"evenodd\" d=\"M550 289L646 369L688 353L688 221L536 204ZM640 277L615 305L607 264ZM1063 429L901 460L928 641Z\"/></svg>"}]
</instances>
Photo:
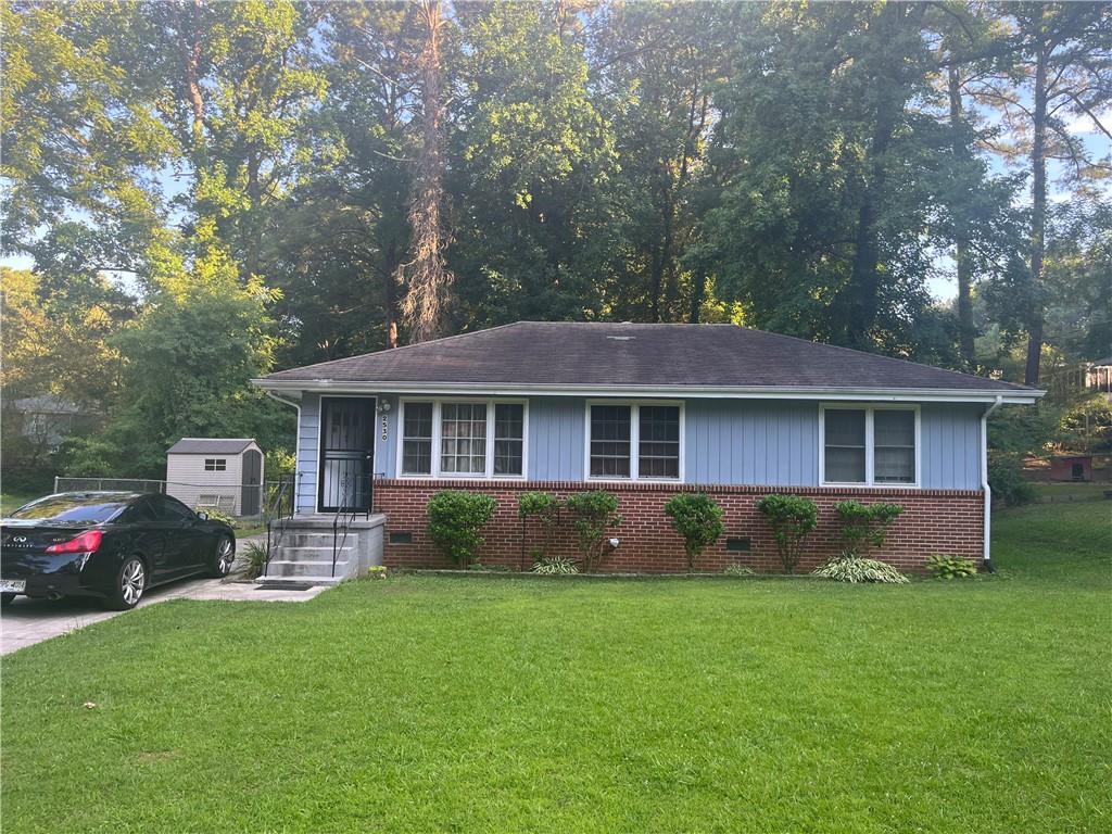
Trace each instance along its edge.
<instances>
[{"instance_id":1,"label":"long white fascia and gutter along the front roof edge","mask_svg":"<svg viewBox=\"0 0 1112 834\"><path fill-rule=\"evenodd\" d=\"M354 383L332 379L252 379L251 383L268 391L319 391L322 394L405 394L467 396L483 394L490 397L603 397L633 398L676 397L711 399L824 399L867 400L871 403L1002 403L1031 405L1045 391L956 390L952 388L790 388L743 386L626 386L614 388L600 385L479 385L474 383Z\"/></svg>"}]
</instances>

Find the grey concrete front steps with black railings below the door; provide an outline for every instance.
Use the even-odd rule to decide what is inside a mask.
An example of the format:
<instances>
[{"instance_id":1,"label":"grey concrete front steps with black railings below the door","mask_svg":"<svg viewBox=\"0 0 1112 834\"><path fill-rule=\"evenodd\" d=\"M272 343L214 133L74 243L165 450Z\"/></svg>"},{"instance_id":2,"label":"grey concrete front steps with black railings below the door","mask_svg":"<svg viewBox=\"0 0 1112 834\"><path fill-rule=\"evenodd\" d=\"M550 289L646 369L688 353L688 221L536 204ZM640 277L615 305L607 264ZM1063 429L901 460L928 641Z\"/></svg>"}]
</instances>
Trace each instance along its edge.
<instances>
[{"instance_id":1,"label":"grey concrete front steps with black railings below the door","mask_svg":"<svg viewBox=\"0 0 1112 834\"><path fill-rule=\"evenodd\" d=\"M336 585L366 573L371 565L383 564L383 526L386 516L373 515L351 522L347 535L332 535L331 515L302 515L286 520L286 529L272 545L270 564L258 578L269 583L304 582L312 585ZM332 569L332 547L336 546L336 568Z\"/></svg>"}]
</instances>

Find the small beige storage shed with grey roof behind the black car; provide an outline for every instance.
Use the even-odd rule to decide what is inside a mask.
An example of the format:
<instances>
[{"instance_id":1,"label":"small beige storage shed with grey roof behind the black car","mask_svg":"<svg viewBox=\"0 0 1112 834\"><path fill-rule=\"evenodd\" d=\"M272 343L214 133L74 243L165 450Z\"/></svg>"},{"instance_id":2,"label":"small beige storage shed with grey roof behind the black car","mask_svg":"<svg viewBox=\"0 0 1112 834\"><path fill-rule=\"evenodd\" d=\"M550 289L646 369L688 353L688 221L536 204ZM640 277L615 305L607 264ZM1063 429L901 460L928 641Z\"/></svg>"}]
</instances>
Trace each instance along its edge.
<instances>
[{"instance_id":1,"label":"small beige storage shed with grey roof behind the black car","mask_svg":"<svg viewBox=\"0 0 1112 834\"><path fill-rule=\"evenodd\" d=\"M258 515L262 450L250 437L182 437L166 451L166 494L190 507Z\"/></svg>"}]
</instances>

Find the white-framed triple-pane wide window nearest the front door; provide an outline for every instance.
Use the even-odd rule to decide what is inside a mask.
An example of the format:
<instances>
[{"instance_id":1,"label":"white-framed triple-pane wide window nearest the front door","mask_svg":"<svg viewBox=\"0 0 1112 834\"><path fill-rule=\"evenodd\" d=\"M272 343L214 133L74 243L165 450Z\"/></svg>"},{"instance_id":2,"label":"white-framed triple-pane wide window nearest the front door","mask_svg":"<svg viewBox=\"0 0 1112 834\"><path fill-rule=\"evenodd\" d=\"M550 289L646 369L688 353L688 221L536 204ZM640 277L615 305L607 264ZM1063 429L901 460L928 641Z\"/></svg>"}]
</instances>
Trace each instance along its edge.
<instances>
[{"instance_id":1,"label":"white-framed triple-pane wide window nearest the front door","mask_svg":"<svg viewBox=\"0 0 1112 834\"><path fill-rule=\"evenodd\" d=\"M398 477L524 478L524 400L403 399Z\"/></svg>"}]
</instances>

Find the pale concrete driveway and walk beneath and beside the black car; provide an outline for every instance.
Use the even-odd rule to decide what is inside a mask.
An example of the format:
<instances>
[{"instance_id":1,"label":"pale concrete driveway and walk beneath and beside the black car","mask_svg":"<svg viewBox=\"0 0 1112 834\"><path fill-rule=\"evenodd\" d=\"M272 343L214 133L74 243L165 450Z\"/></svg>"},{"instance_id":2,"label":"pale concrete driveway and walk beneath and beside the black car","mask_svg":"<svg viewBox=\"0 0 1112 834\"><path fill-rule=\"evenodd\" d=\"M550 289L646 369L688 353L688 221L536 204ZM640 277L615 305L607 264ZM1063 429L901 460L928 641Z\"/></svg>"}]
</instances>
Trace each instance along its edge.
<instances>
[{"instance_id":1,"label":"pale concrete driveway and walk beneath and beside the black car","mask_svg":"<svg viewBox=\"0 0 1112 834\"><path fill-rule=\"evenodd\" d=\"M143 594L137 607L158 605L167 599L229 599L259 603L304 603L325 590L318 585L307 590L260 588L254 583L222 579L182 579ZM92 623L128 612L105 610L96 599L29 599L18 596L0 615L0 655L58 637Z\"/></svg>"}]
</instances>

